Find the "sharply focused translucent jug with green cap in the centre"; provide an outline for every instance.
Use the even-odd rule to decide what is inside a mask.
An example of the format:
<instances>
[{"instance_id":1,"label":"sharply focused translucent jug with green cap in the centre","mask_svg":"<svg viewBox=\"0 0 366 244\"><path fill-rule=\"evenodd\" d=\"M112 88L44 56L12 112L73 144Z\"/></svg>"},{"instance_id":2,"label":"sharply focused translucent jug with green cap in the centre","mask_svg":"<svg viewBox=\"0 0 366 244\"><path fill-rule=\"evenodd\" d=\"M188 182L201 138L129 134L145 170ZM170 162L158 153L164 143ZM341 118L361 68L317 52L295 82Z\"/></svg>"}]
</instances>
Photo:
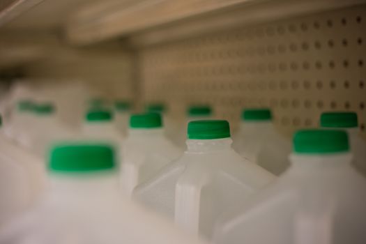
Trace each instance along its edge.
<instances>
[{"instance_id":1,"label":"sharply focused translucent jug with green cap in the centre","mask_svg":"<svg viewBox=\"0 0 366 244\"><path fill-rule=\"evenodd\" d=\"M231 149L227 121L191 121L187 146L181 158L135 188L134 196L186 231L211 238L221 213L275 176Z\"/></svg>"}]
</instances>

